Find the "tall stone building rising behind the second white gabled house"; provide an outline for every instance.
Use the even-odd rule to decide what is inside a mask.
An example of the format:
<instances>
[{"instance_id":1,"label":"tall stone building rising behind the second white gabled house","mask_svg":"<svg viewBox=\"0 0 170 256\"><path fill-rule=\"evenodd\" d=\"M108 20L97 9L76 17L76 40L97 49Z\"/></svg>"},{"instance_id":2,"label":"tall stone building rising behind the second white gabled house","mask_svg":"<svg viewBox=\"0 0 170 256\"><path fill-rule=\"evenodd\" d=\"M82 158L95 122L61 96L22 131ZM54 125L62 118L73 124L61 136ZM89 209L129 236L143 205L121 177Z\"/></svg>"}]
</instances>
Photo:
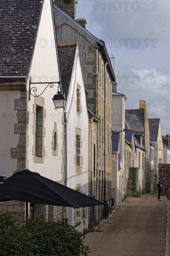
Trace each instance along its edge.
<instances>
[{"instance_id":1,"label":"tall stone building rising behind the second white gabled house","mask_svg":"<svg viewBox=\"0 0 170 256\"><path fill-rule=\"evenodd\" d=\"M56 1L55 3L57 4ZM95 168L97 168L98 182L103 183L98 193L100 200L110 199L111 193L107 191L111 187L108 186L111 182L111 93L112 84L116 79L104 41L98 40L64 11L54 5L58 44L78 42L87 93L87 108L100 120L97 123L95 135L97 137L95 150L98 155L98 165ZM91 169L89 169L89 175L91 175ZM93 196L97 197L97 189Z\"/></svg>"}]
</instances>

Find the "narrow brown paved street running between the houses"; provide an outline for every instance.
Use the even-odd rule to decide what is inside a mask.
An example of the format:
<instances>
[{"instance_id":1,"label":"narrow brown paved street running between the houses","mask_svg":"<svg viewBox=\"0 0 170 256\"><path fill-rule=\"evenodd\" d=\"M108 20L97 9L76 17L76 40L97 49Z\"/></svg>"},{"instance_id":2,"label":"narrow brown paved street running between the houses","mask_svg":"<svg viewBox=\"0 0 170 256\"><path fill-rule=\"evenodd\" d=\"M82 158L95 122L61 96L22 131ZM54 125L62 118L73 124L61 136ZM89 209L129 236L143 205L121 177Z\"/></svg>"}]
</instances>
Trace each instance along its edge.
<instances>
[{"instance_id":1,"label":"narrow brown paved street running between the houses","mask_svg":"<svg viewBox=\"0 0 170 256\"><path fill-rule=\"evenodd\" d=\"M85 238L89 256L164 256L167 200L157 192L128 197L120 208Z\"/></svg>"}]
</instances>

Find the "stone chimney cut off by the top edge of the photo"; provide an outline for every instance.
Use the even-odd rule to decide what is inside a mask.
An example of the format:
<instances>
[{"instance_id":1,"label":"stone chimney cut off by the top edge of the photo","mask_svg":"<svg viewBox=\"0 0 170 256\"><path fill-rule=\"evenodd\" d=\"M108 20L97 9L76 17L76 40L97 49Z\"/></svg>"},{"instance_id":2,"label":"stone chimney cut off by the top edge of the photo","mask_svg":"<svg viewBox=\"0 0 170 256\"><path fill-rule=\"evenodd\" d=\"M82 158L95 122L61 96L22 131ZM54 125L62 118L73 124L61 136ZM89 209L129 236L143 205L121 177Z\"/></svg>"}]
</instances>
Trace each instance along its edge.
<instances>
[{"instance_id":1,"label":"stone chimney cut off by the top edge of the photo","mask_svg":"<svg viewBox=\"0 0 170 256\"><path fill-rule=\"evenodd\" d=\"M53 0L54 4L67 13L72 19L76 19L77 0Z\"/></svg>"}]
</instances>

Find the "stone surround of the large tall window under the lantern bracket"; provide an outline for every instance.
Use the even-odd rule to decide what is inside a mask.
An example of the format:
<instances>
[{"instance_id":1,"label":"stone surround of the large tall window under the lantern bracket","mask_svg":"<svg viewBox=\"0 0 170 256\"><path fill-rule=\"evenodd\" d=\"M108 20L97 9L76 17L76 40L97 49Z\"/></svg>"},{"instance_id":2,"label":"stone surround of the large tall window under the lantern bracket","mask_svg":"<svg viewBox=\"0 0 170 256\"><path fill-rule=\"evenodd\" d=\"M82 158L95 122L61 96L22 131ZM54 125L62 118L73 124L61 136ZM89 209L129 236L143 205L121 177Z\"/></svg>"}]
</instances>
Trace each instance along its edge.
<instances>
[{"instance_id":1,"label":"stone surround of the large tall window under the lantern bracket","mask_svg":"<svg viewBox=\"0 0 170 256\"><path fill-rule=\"evenodd\" d=\"M36 94L35 94L36 96ZM33 135L34 135L34 144L33 144L33 162L34 163L44 163L44 157L46 156L45 146L44 146L44 138L46 136L46 128L45 128L45 119L46 119L46 109L45 107L45 99L43 97L35 97L33 104ZM39 116L37 116L37 109L40 109ZM37 122L39 126L37 127ZM37 141L37 128L38 133L41 136ZM37 143L39 145L37 145ZM37 147L37 148L36 148Z\"/></svg>"}]
</instances>

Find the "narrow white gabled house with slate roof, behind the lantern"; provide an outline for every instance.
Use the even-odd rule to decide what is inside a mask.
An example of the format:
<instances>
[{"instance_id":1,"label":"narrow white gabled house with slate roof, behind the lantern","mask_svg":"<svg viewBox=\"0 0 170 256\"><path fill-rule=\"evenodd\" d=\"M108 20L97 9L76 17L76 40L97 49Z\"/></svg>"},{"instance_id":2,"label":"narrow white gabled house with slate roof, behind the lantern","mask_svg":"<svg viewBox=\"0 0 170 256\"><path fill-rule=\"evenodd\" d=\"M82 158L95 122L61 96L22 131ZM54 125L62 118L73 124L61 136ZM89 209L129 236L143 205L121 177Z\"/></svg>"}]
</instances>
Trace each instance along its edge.
<instances>
[{"instance_id":1,"label":"narrow white gabled house with slate roof, behind the lantern","mask_svg":"<svg viewBox=\"0 0 170 256\"><path fill-rule=\"evenodd\" d=\"M78 43L59 45L65 106L67 186L88 195L88 112ZM88 208L67 209L68 222L79 231L88 227Z\"/></svg>"}]
</instances>

